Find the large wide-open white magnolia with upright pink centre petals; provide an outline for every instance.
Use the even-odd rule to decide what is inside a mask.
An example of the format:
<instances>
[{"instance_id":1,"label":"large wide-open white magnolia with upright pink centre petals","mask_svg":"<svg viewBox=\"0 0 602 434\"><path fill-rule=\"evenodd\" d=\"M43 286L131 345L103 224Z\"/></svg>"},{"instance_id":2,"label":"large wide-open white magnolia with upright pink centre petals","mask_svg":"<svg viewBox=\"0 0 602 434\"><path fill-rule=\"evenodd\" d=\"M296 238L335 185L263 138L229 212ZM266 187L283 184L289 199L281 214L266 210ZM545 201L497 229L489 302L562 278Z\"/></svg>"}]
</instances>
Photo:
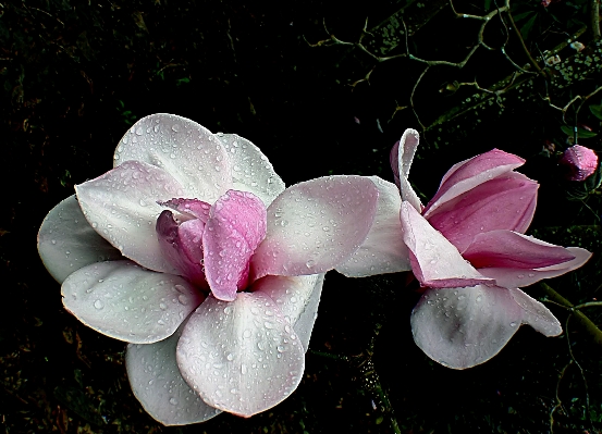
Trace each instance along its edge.
<instances>
[{"instance_id":1,"label":"large wide-open white magnolia with upright pink centre petals","mask_svg":"<svg viewBox=\"0 0 602 434\"><path fill-rule=\"evenodd\" d=\"M394 193L361 176L285 189L250 141L155 114L50 211L38 250L65 308L130 343L132 388L156 420L249 417L299 384L328 270L409 268L380 241L401 233Z\"/></svg>"}]
</instances>

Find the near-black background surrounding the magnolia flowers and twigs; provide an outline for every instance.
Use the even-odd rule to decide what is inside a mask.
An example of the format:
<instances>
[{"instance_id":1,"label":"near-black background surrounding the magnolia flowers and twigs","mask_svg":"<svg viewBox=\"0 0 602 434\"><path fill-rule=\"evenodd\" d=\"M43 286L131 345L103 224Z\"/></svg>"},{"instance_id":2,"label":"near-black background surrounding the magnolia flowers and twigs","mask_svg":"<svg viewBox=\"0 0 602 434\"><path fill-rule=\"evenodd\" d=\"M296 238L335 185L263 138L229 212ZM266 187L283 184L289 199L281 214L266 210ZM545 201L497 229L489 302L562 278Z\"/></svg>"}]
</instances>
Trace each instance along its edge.
<instances>
[{"instance_id":1,"label":"near-black background surrounding the magnolia flowers and twigs","mask_svg":"<svg viewBox=\"0 0 602 434\"><path fill-rule=\"evenodd\" d=\"M407 107L422 66L407 59L377 65L357 49L312 48L307 41L328 39L322 21L341 40L357 40L367 16L376 25L405 3L0 4L0 426L7 433L392 433L394 425L402 433L602 429L600 347L575 321L568 336L585 376L572 361L566 334L545 338L529 327L491 361L453 371L428 359L411 339L409 312L418 294L406 287L405 274L352 280L335 272L327 276L305 377L290 398L248 420L221 414L199 425L164 427L131 393L124 344L87 328L63 309L60 286L37 256L36 233L47 212L73 194L74 184L107 172L121 136L151 113L179 114L212 132L251 140L286 185L328 174L392 181L392 145L406 127L420 129ZM550 8L563 14L566 3ZM472 14L491 7L489 1L455 5ZM539 2L519 5L535 10ZM445 7L408 46L426 59L459 61L480 25L468 24ZM563 25L573 32L579 23ZM541 26L536 30L543 36L532 38L542 47L565 37ZM500 26L492 24L487 32L492 45L503 42ZM591 37L586 33L583 42ZM507 50L526 63L517 40L509 39ZM474 92L462 88L446 97L440 91L446 83L478 76L481 86L492 86L512 73L500 55L481 51L462 71L429 71L414 97L425 125ZM352 86L374 65L369 82ZM597 80L600 75L593 74L553 97L562 107L594 90ZM537 86L531 96L537 97ZM550 142L556 151L568 146L560 128L562 115L541 98L533 101L508 99L502 113L484 113L482 122L458 119L429 129L411 181L427 201L457 161L494 147L526 158L520 171L541 183L532 226L537 233L530 233L595 253L581 270L549 283L574 303L590 301L602 295L600 195L594 186L562 179L556 154L544 151ZM600 97L590 102L599 104ZM406 109L395 112L396 107ZM600 121L587 108L581 113L588 126L600 131ZM443 138L434 146L438 136ZM588 140L582 145L601 150L598 137ZM528 293L543 297L537 286ZM549 306L564 323L567 311ZM586 310L598 324L600 312Z\"/></svg>"}]
</instances>

